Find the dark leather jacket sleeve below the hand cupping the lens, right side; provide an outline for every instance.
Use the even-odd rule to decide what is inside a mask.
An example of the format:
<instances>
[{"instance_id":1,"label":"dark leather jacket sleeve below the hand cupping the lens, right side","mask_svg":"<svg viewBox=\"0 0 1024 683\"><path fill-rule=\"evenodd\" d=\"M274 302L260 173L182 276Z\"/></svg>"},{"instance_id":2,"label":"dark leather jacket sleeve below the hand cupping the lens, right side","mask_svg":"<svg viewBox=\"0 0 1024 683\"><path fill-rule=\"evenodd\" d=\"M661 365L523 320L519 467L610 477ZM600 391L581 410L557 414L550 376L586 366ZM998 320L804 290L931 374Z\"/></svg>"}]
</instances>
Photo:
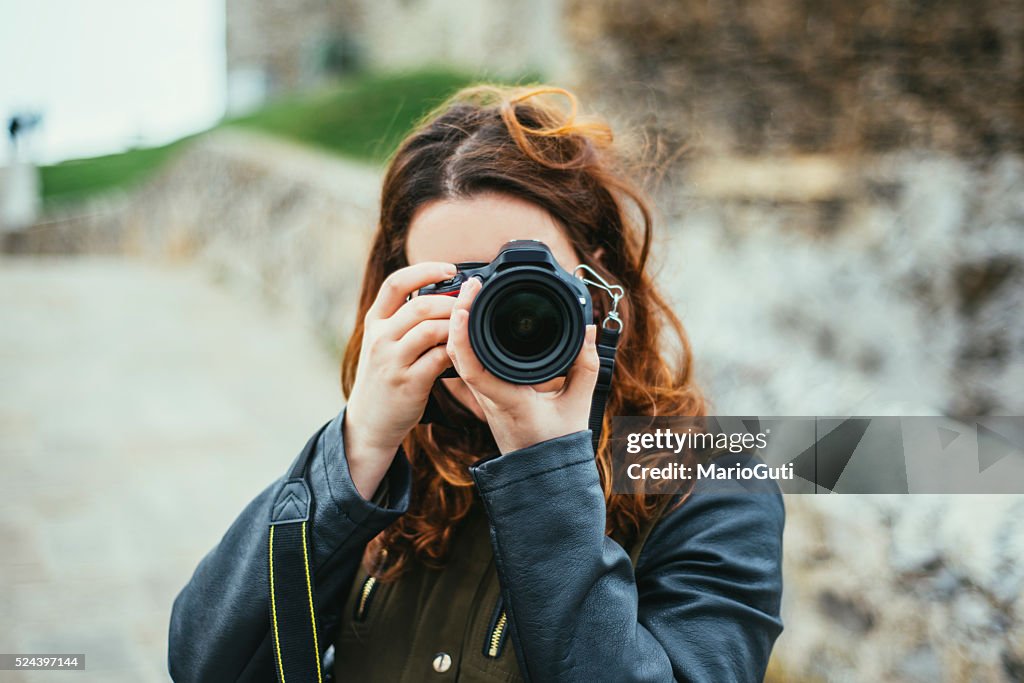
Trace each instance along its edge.
<instances>
[{"instance_id":1,"label":"dark leather jacket sleeve below the hand cupping the lens, right side","mask_svg":"<svg viewBox=\"0 0 1024 683\"><path fill-rule=\"evenodd\" d=\"M698 479L655 525L634 573L604 532L589 430L472 473L526 680L763 680L782 630L774 482Z\"/></svg>"}]
</instances>

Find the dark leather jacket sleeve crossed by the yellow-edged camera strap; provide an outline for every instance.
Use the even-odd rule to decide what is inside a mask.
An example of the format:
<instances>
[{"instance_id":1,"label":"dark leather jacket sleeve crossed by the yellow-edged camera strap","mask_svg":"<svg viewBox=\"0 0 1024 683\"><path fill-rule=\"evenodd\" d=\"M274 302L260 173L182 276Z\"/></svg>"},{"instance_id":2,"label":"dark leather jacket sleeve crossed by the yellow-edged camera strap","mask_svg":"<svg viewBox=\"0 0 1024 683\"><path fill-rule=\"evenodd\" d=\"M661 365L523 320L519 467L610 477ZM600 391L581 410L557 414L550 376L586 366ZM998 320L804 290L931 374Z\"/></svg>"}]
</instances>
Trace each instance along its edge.
<instances>
[{"instance_id":1,"label":"dark leather jacket sleeve crossed by the yellow-edged camera strap","mask_svg":"<svg viewBox=\"0 0 1024 683\"><path fill-rule=\"evenodd\" d=\"M321 628L328 635L321 640L325 648L333 642L337 610L322 606L344 599L367 543L409 506L410 468L401 452L382 482L389 506L358 494L345 460L343 421L344 411L328 424L308 467L311 562ZM282 469L282 478L242 511L174 600L167 658L171 678L179 683L276 680L267 544L270 506L288 476Z\"/></svg>"}]
</instances>

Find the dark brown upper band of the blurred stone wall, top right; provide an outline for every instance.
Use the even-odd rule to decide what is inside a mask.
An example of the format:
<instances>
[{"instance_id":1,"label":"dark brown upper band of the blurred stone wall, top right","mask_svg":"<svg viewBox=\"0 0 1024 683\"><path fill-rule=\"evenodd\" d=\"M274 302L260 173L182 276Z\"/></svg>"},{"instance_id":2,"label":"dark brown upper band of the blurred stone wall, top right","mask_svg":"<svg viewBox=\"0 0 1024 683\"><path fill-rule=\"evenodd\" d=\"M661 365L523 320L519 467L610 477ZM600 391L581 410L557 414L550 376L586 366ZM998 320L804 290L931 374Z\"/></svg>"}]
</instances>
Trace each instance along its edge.
<instances>
[{"instance_id":1,"label":"dark brown upper band of the blurred stone wall, top right","mask_svg":"<svg viewBox=\"0 0 1024 683\"><path fill-rule=\"evenodd\" d=\"M603 95L716 153L1024 151L1016 0L568 0L565 23Z\"/></svg>"}]
</instances>

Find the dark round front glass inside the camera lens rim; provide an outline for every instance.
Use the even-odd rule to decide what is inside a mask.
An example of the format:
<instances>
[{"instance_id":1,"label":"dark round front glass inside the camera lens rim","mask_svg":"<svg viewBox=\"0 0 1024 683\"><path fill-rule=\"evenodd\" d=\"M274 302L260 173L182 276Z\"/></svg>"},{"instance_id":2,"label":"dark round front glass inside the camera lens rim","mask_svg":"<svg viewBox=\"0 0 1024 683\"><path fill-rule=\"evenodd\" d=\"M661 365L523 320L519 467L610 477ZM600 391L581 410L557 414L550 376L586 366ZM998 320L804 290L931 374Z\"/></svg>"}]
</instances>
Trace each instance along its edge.
<instances>
[{"instance_id":1,"label":"dark round front glass inside the camera lens rim","mask_svg":"<svg viewBox=\"0 0 1024 683\"><path fill-rule=\"evenodd\" d=\"M553 293L526 285L496 302L492 338L510 358L536 360L552 352L563 338L565 313Z\"/></svg>"}]
</instances>

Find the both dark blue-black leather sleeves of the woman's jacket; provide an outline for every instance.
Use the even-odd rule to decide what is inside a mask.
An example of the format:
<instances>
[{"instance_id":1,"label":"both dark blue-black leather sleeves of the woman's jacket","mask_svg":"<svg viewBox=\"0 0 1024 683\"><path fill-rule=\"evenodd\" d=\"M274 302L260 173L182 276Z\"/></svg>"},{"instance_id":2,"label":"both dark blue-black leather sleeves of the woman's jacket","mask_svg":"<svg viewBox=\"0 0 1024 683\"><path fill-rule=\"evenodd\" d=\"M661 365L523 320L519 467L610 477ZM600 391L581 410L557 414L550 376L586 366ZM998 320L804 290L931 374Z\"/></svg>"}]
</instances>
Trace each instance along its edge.
<instances>
[{"instance_id":1,"label":"both dark blue-black leather sleeves of the woman's jacket","mask_svg":"<svg viewBox=\"0 0 1024 683\"><path fill-rule=\"evenodd\" d=\"M407 510L410 495L399 454L386 475L390 504L359 496L345 461L343 415L325 429L309 470L324 647L339 621L324 606L344 600L366 544ZM761 681L782 630L777 486L698 480L654 526L634 570L605 535L590 436L568 434L471 470L523 678ZM168 666L175 681L275 679L266 548L283 480L243 510L174 601Z\"/></svg>"}]
</instances>

